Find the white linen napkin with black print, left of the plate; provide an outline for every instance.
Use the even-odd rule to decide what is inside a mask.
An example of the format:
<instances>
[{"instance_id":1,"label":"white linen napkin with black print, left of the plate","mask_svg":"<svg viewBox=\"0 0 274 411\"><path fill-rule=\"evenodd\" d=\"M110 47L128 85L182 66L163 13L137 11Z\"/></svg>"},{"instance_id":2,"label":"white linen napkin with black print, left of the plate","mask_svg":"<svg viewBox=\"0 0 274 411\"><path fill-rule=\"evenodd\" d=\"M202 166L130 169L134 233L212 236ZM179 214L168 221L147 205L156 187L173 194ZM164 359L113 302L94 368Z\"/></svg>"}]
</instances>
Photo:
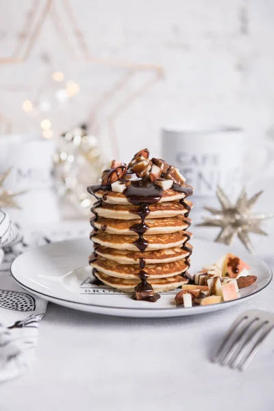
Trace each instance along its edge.
<instances>
[{"instance_id":1,"label":"white linen napkin with black print, left of the plate","mask_svg":"<svg viewBox=\"0 0 274 411\"><path fill-rule=\"evenodd\" d=\"M47 301L17 286L10 264L27 245L8 214L0 210L0 382L18 377L35 359L38 321Z\"/></svg>"}]
</instances>

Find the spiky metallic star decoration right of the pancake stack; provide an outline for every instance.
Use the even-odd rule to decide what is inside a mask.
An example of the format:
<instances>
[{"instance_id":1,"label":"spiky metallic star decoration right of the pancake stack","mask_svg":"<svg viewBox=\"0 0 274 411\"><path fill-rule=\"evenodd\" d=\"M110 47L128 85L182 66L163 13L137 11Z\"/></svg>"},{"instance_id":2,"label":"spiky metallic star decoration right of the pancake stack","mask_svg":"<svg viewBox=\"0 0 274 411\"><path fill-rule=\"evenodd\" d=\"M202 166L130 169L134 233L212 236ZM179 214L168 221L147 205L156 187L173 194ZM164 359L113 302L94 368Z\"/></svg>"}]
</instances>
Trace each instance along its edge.
<instances>
[{"instance_id":1,"label":"spiky metallic star decoration right of the pancake stack","mask_svg":"<svg viewBox=\"0 0 274 411\"><path fill-rule=\"evenodd\" d=\"M247 199L247 192L243 188L240 197L233 205L225 192L217 187L216 195L221 203L221 210L212 207L205 207L205 210L211 212L212 216L204 217L203 223L197 224L198 227L221 227L221 232L215 238L216 242L223 242L232 245L236 236L250 253L253 247L249 239L249 233L261 234L267 236L267 233L261 229L260 223L264 219L271 219L274 213L251 213L252 206L256 203L263 191L257 192L250 199Z\"/></svg>"}]
</instances>

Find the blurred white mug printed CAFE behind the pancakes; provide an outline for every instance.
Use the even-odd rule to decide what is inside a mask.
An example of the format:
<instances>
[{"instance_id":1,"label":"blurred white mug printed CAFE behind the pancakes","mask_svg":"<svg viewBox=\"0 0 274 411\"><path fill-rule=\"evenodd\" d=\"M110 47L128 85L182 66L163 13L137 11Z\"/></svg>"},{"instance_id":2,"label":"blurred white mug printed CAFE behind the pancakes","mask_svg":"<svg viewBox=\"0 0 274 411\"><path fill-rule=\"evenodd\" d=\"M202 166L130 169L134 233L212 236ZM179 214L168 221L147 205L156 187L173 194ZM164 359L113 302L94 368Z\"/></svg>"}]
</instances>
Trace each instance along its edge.
<instances>
[{"instance_id":1,"label":"blurred white mug printed CAFE behind the pancakes","mask_svg":"<svg viewBox=\"0 0 274 411\"><path fill-rule=\"evenodd\" d=\"M244 135L239 127L171 125L162 129L162 157L195 188L196 208L216 204L217 185L233 197L241 188Z\"/></svg>"}]
</instances>

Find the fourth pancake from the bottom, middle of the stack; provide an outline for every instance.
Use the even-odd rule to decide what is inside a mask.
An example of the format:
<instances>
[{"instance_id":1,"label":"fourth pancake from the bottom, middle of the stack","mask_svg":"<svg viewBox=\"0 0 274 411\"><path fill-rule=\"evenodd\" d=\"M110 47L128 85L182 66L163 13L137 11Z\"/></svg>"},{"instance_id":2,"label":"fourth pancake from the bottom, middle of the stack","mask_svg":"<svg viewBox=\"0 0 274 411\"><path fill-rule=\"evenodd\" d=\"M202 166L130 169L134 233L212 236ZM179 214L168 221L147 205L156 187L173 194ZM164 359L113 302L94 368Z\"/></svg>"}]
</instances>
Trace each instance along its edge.
<instances>
[{"instance_id":1,"label":"fourth pancake from the bottom, middle of the stack","mask_svg":"<svg viewBox=\"0 0 274 411\"><path fill-rule=\"evenodd\" d=\"M155 234L147 236L144 234L145 240L149 242L146 251L160 250L171 247L179 247L188 240L190 233L188 232L176 232L170 234ZM138 247L134 244L136 236L127 236L123 234L109 234L106 232L92 233L92 241L104 247L110 247L114 249L132 250L138 251Z\"/></svg>"}]
</instances>

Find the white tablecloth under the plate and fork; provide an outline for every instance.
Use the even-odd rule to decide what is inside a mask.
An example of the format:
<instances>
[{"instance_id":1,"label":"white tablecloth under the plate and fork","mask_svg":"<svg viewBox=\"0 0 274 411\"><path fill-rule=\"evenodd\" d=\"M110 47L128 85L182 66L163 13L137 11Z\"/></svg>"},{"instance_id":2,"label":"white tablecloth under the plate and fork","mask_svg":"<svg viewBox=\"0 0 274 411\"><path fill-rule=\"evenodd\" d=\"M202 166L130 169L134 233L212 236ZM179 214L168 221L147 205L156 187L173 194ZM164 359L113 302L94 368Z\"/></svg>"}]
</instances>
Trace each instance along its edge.
<instances>
[{"instance_id":1,"label":"white tablecloth under the plate and fork","mask_svg":"<svg viewBox=\"0 0 274 411\"><path fill-rule=\"evenodd\" d=\"M268 230L255 244L272 264L273 222ZM273 284L234 308L181 319L119 319L49 303L36 366L0 386L0 410L273 411L274 333L243 373L209 360L235 317L254 308L274 311Z\"/></svg>"}]
</instances>

